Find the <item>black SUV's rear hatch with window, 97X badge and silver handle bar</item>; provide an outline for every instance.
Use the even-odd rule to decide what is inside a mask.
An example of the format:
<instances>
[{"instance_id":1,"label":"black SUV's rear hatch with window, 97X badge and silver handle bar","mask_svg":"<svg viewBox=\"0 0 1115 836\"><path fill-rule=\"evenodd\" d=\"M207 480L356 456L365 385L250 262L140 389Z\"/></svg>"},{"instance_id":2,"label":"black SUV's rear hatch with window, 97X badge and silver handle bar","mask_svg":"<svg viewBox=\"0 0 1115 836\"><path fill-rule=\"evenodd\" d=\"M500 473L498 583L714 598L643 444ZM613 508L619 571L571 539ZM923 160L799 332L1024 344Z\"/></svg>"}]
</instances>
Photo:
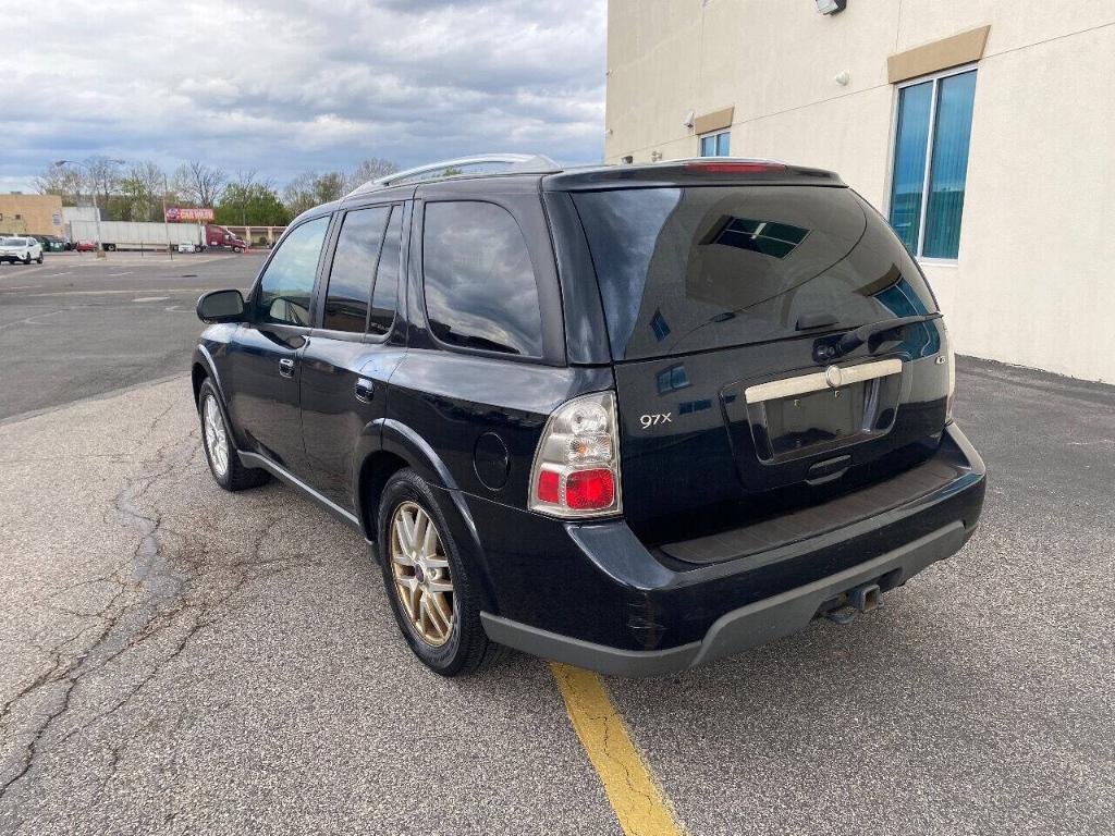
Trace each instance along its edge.
<instances>
[{"instance_id":1,"label":"black SUV's rear hatch with window, 97X badge and silver handle bar","mask_svg":"<svg viewBox=\"0 0 1115 836\"><path fill-rule=\"evenodd\" d=\"M644 542L777 526L933 455L949 391L937 302L853 191L656 184L573 201L614 360L624 515Z\"/></svg>"}]
</instances>

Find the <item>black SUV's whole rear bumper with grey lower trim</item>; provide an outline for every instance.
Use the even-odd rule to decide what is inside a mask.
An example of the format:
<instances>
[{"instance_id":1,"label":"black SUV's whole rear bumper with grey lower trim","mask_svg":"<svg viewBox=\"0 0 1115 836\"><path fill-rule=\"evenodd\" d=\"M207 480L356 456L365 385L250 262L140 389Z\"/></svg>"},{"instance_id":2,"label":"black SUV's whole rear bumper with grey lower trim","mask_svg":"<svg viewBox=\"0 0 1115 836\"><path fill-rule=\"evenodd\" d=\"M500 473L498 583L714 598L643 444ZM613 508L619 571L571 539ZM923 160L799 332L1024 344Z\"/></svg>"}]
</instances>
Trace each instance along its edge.
<instances>
[{"instance_id":1,"label":"black SUV's whole rear bumper with grey lower trim","mask_svg":"<svg viewBox=\"0 0 1115 836\"><path fill-rule=\"evenodd\" d=\"M617 675L787 635L841 593L869 582L886 592L963 546L982 509L983 463L952 425L935 458L948 476L922 495L846 524L834 513L823 533L705 565L652 553L622 521L561 523L468 497L484 544L482 621L493 641Z\"/></svg>"}]
</instances>

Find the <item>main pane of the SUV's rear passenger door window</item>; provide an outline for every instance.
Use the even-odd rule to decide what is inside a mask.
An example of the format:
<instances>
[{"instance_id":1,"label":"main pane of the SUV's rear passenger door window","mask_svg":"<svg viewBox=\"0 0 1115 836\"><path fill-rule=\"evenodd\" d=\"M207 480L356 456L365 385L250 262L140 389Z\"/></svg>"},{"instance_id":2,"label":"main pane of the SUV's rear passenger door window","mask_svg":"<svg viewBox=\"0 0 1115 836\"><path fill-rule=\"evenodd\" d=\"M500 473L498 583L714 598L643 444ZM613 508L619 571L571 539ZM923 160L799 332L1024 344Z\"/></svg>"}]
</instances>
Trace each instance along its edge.
<instances>
[{"instance_id":1,"label":"main pane of the SUV's rear passenger door window","mask_svg":"<svg viewBox=\"0 0 1115 836\"><path fill-rule=\"evenodd\" d=\"M363 333L371 279L386 221L387 208L382 207L358 210L345 215L329 272L322 328Z\"/></svg>"}]
</instances>

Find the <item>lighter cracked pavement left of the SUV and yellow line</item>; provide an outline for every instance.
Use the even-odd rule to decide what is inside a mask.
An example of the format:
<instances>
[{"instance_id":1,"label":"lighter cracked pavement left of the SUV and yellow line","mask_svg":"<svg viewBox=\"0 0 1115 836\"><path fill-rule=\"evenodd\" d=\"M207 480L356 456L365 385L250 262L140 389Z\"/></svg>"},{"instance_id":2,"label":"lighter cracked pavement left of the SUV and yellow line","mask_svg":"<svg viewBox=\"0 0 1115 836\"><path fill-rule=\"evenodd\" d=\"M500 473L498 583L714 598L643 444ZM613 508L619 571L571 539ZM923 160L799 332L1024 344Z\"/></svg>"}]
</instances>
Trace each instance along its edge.
<instances>
[{"instance_id":1,"label":"lighter cracked pavement left of the SUV and yellow line","mask_svg":"<svg viewBox=\"0 0 1115 836\"><path fill-rule=\"evenodd\" d=\"M213 484L188 379L0 450L0 833L619 832L545 664L416 664L357 534Z\"/></svg>"}]
</instances>

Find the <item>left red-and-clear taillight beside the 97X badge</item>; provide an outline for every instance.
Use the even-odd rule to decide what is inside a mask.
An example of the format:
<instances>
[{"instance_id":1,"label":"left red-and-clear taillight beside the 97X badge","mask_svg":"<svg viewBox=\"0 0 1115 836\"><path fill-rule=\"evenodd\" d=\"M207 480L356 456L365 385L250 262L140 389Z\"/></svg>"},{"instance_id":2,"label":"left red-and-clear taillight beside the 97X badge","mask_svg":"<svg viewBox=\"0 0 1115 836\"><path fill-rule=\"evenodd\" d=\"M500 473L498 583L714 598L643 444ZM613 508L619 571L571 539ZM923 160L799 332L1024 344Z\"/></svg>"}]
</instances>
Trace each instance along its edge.
<instances>
[{"instance_id":1,"label":"left red-and-clear taillight beside the 97X badge","mask_svg":"<svg viewBox=\"0 0 1115 836\"><path fill-rule=\"evenodd\" d=\"M550 416L531 470L531 508L555 517L621 511L614 392L574 398Z\"/></svg>"}]
</instances>

